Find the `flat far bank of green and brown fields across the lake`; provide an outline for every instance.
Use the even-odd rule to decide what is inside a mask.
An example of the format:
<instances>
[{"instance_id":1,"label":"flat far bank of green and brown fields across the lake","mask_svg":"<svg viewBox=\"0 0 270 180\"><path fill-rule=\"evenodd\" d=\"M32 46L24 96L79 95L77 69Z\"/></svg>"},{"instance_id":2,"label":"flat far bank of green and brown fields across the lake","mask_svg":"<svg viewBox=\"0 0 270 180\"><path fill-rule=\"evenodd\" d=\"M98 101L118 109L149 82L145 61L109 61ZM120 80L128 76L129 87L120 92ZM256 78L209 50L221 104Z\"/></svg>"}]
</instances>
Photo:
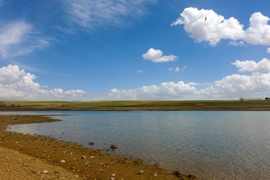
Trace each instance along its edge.
<instances>
[{"instance_id":1,"label":"flat far bank of green and brown fields across the lake","mask_svg":"<svg viewBox=\"0 0 270 180\"><path fill-rule=\"evenodd\" d=\"M179 111L270 111L270 101L0 101L0 111L34 110L179 110Z\"/></svg>"}]
</instances>

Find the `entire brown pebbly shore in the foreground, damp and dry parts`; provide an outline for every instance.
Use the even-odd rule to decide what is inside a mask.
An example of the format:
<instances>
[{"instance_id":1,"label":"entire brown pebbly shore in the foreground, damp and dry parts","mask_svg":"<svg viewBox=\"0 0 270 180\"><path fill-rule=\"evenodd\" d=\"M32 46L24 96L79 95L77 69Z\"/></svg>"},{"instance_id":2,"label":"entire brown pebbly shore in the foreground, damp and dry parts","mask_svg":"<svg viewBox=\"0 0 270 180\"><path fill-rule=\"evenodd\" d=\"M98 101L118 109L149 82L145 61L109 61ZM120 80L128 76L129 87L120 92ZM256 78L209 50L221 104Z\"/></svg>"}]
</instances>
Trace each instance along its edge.
<instances>
[{"instance_id":1,"label":"entire brown pebbly shore in the foreground, damp and dry parts","mask_svg":"<svg viewBox=\"0 0 270 180\"><path fill-rule=\"evenodd\" d=\"M0 115L0 179L196 179L141 159L5 131L9 124L52 121L57 120L42 115Z\"/></svg>"}]
</instances>

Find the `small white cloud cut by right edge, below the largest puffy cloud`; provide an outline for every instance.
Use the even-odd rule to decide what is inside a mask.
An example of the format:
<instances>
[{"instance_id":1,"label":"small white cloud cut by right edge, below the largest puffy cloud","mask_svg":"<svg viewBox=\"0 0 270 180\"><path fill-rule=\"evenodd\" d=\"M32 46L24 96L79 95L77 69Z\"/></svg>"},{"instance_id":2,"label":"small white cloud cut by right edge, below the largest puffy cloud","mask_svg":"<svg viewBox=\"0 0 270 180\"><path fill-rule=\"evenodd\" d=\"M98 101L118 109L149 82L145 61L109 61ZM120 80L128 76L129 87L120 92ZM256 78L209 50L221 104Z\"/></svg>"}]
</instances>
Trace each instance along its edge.
<instances>
[{"instance_id":1,"label":"small white cloud cut by right edge, below the largest puffy cloud","mask_svg":"<svg viewBox=\"0 0 270 180\"><path fill-rule=\"evenodd\" d=\"M263 58L258 63L255 61L239 61L236 60L236 62L231 63L233 65L236 65L237 68L239 68L240 72L251 72L251 73L262 73L265 71L270 71L270 61L266 58Z\"/></svg>"}]
</instances>

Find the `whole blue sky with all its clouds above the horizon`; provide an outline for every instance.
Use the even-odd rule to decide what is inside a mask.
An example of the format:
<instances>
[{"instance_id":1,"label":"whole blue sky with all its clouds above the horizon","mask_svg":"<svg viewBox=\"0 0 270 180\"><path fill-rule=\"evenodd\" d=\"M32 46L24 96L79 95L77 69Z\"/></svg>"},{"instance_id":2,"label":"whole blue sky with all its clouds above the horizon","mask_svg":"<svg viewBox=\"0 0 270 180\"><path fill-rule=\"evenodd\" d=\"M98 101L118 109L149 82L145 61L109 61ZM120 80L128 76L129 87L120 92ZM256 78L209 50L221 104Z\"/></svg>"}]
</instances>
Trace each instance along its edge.
<instances>
[{"instance_id":1,"label":"whole blue sky with all its clouds above the horizon","mask_svg":"<svg viewBox=\"0 0 270 180\"><path fill-rule=\"evenodd\" d=\"M270 96L268 7L0 0L0 99Z\"/></svg>"}]
</instances>

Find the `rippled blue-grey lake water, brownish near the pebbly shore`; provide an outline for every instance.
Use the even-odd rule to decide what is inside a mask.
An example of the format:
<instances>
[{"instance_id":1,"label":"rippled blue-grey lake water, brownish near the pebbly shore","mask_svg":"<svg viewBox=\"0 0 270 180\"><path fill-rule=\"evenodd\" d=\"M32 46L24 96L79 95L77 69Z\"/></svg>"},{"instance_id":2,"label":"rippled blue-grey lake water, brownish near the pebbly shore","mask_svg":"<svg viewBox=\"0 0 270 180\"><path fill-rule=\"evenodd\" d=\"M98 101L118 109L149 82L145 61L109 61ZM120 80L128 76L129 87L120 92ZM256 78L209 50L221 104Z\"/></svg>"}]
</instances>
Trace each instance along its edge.
<instances>
[{"instance_id":1,"label":"rippled blue-grey lake water, brownish near the pebbly shore","mask_svg":"<svg viewBox=\"0 0 270 180\"><path fill-rule=\"evenodd\" d=\"M109 149L115 143L118 149L112 153L201 179L270 179L270 112L33 113L75 115L55 117L61 122L13 125L9 130L91 148ZM88 145L91 141L93 146Z\"/></svg>"}]
</instances>

